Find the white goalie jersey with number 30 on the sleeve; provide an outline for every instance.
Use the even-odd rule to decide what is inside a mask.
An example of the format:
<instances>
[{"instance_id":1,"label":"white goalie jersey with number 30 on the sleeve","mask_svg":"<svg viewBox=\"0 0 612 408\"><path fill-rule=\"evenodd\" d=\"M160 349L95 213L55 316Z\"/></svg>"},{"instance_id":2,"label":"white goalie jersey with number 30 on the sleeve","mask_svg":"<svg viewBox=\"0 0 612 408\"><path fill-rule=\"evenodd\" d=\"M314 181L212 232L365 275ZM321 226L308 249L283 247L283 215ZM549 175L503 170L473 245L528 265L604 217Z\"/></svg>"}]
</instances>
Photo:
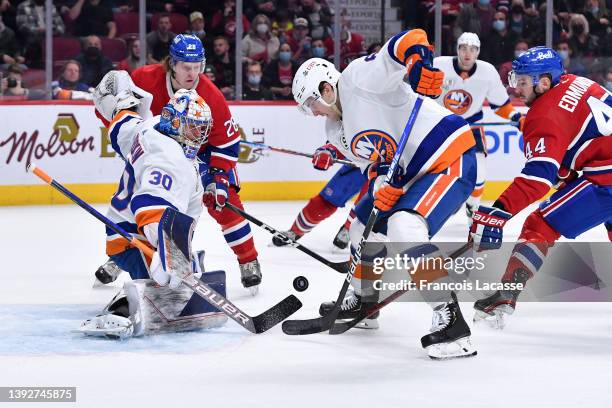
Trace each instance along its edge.
<instances>
[{"instance_id":1,"label":"white goalie jersey with number 30 on the sleeve","mask_svg":"<svg viewBox=\"0 0 612 408\"><path fill-rule=\"evenodd\" d=\"M143 121L131 111L120 112L109 125L113 149L125 161L125 170L107 216L138 240L147 243L142 228L159 222L172 207L198 219L202 212L202 182L197 163L185 157L181 146L155 130L159 116ZM130 248L107 228L106 252L115 255Z\"/></svg>"}]
</instances>

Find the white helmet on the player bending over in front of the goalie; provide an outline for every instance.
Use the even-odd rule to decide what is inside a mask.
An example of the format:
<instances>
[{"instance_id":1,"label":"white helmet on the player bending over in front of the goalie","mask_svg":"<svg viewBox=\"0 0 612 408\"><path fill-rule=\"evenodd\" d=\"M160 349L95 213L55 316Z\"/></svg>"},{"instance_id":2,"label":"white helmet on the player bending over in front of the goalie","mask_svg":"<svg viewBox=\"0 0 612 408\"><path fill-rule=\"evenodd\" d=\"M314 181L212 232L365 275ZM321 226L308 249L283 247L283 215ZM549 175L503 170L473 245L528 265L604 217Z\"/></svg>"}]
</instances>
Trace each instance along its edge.
<instances>
[{"instance_id":1,"label":"white helmet on the player bending over in front of the goalie","mask_svg":"<svg viewBox=\"0 0 612 408\"><path fill-rule=\"evenodd\" d=\"M320 100L325 105L332 106L338 97L338 80L340 72L336 70L334 64L323 58L310 58L298 68L293 78L293 99L298 104L298 109L306 115L313 115L310 106L314 101ZM322 82L329 83L334 89L334 100L327 104L321 98L319 87Z\"/></svg>"}]
</instances>

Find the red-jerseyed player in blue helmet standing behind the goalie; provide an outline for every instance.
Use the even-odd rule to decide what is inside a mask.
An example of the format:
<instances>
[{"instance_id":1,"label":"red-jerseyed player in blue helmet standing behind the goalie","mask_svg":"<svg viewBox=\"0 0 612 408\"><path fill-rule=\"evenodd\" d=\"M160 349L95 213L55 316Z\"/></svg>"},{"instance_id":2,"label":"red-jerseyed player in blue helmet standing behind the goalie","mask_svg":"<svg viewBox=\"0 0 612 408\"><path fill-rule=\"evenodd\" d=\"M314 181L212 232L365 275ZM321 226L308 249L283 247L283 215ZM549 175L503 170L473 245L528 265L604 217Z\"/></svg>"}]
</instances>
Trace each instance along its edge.
<instances>
[{"instance_id":1,"label":"red-jerseyed player in blue helmet standing behind the goalie","mask_svg":"<svg viewBox=\"0 0 612 408\"><path fill-rule=\"evenodd\" d=\"M153 115L159 115L174 92L181 88L195 89L210 106L212 130L198 153L200 174L206 189L203 200L208 213L219 223L225 240L238 258L243 286L255 294L262 275L251 228L244 218L224 208L226 201L243 208L238 195L240 181L236 172L240 132L223 94L202 73L204 64L202 42L196 36L180 34L170 44L169 56L162 63L138 68L131 76L138 87L153 95ZM96 272L98 279L102 277L104 283L104 272L111 268L112 265L107 264L100 267Z\"/></svg>"}]
</instances>

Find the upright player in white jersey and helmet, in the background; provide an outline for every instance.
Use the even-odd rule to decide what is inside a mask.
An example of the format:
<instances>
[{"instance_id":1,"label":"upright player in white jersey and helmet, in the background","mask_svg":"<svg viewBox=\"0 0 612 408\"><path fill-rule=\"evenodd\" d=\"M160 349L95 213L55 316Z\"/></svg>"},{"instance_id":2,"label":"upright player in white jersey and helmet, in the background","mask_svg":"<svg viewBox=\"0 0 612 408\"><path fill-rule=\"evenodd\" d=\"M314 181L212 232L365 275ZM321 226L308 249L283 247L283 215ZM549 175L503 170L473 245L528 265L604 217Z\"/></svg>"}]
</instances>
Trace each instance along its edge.
<instances>
[{"instance_id":1,"label":"upright player in white jersey and helmet, in the background","mask_svg":"<svg viewBox=\"0 0 612 408\"><path fill-rule=\"evenodd\" d=\"M476 139L476 188L466 203L470 222L480 204L487 170L485 132L478 124L483 118L485 100L498 116L522 123L522 115L512 106L497 70L488 62L479 60L479 53L480 39L474 33L465 32L457 40L457 56L436 57L433 62L434 67L444 72L438 103L464 118L472 126Z\"/></svg>"}]
</instances>

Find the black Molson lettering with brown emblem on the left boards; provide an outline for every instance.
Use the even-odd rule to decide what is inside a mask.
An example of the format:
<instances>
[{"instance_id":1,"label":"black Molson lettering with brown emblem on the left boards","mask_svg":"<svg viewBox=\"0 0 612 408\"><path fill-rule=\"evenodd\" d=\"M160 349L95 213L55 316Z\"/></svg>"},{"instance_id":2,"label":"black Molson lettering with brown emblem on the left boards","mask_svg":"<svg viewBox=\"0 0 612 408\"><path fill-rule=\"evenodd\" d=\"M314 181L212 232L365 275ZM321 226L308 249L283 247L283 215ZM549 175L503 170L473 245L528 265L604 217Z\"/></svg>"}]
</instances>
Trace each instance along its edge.
<instances>
[{"instance_id":1,"label":"black Molson lettering with brown emblem on the left boards","mask_svg":"<svg viewBox=\"0 0 612 408\"><path fill-rule=\"evenodd\" d=\"M32 158L40 160L56 155L75 155L93 151L94 138L89 136L77 139L79 124L71 113L60 113L53 125L53 133L46 142L39 141L39 132L35 130L31 135L27 132L13 132L8 138L0 141L0 148L8 147L5 163L10 164L13 158L17 163L24 162L24 168L32 162Z\"/></svg>"}]
</instances>

